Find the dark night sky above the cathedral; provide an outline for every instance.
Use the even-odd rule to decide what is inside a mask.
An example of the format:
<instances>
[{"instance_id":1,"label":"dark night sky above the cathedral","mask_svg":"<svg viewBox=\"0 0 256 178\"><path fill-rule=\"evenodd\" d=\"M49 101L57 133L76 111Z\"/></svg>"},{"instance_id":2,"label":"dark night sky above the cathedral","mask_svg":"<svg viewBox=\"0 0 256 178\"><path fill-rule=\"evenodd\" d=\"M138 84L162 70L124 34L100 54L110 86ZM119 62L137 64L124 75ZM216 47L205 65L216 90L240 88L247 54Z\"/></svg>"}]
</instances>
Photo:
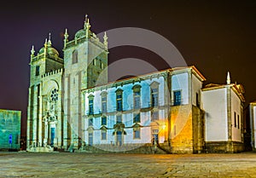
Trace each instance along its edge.
<instances>
[{"instance_id":1,"label":"dark night sky above the cathedral","mask_svg":"<svg viewBox=\"0 0 256 178\"><path fill-rule=\"evenodd\" d=\"M70 38L84 26L89 14L91 30L99 33L117 27L140 27L166 37L207 78L206 83L232 82L246 90L247 103L256 100L255 1L9 1L0 6L1 65L0 108L21 110L25 135L32 44L51 41L62 56L63 32ZM127 57L139 58L165 69L165 60L147 49L110 49L109 64Z\"/></svg>"}]
</instances>

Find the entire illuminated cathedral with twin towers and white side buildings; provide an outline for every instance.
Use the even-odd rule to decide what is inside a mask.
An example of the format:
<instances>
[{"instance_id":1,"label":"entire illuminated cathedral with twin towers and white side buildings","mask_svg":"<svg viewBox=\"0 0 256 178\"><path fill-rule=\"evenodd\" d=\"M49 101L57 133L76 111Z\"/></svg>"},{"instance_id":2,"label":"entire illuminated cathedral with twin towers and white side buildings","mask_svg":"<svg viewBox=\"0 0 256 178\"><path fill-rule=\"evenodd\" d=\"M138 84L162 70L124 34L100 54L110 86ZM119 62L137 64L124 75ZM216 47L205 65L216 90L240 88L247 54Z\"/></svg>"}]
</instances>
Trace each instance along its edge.
<instances>
[{"instance_id":1,"label":"entire illuminated cathedral with twin towers and white side buildings","mask_svg":"<svg viewBox=\"0 0 256 178\"><path fill-rule=\"evenodd\" d=\"M66 30L63 53L50 37L38 54L32 47L28 152L243 150L244 92L229 76L203 89L201 72L183 66L108 83L108 37L101 42L87 17L73 40Z\"/></svg>"}]
</instances>

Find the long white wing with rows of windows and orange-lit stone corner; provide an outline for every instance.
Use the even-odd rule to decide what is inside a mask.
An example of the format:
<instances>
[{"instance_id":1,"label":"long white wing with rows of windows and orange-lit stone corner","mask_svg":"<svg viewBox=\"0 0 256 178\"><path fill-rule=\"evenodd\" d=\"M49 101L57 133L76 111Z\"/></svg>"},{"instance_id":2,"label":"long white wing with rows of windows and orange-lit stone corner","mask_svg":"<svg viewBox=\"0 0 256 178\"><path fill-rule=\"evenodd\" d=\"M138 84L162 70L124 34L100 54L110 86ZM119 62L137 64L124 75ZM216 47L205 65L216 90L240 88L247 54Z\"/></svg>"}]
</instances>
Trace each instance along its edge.
<instances>
[{"instance_id":1,"label":"long white wing with rows of windows and orange-lit stone corner","mask_svg":"<svg viewBox=\"0 0 256 178\"><path fill-rule=\"evenodd\" d=\"M84 89L82 140L109 150L156 141L169 152L201 152L204 80L190 66Z\"/></svg>"}]
</instances>

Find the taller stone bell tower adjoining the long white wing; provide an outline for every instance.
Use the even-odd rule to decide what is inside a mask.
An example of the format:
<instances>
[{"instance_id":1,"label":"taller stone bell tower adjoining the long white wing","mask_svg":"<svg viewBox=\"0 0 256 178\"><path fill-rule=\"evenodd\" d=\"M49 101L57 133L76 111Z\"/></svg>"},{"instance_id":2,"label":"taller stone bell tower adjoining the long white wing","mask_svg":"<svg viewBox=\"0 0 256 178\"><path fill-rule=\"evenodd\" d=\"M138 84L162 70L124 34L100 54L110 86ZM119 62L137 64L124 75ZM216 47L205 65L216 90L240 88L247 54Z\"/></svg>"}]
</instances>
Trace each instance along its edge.
<instances>
[{"instance_id":1,"label":"taller stone bell tower adjoining the long white wing","mask_svg":"<svg viewBox=\"0 0 256 178\"><path fill-rule=\"evenodd\" d=\"M88 89L108 83L108 37L103 42L90 31L90 22L85 16L84 28L76 32L68 41L67 30L64 35L64 127L70 123L71 132L64 133L64 146L73 149L81 145L83 135L84 95Z\"/></svg>"}]
</instances>

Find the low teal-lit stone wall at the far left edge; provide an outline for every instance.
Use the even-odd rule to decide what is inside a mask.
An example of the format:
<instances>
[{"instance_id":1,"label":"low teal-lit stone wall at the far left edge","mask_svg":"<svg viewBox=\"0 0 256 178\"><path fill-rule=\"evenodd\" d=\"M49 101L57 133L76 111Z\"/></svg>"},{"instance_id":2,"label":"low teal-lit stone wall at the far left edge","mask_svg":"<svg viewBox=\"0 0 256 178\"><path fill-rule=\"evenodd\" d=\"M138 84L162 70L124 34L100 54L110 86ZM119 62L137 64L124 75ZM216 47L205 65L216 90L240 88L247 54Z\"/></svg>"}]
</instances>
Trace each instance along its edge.
<instances>
[{"instance_id":1,"label":"low teal-lit stone wall at the far left edge","mask_svg":"<svg viewBox=\"0 0 256 178\"><path fill-rule=\"evenodd\" d=\"M20 149L20 118L20 111L0 109L0 149Z\"/></svg>"}]
</instances>

